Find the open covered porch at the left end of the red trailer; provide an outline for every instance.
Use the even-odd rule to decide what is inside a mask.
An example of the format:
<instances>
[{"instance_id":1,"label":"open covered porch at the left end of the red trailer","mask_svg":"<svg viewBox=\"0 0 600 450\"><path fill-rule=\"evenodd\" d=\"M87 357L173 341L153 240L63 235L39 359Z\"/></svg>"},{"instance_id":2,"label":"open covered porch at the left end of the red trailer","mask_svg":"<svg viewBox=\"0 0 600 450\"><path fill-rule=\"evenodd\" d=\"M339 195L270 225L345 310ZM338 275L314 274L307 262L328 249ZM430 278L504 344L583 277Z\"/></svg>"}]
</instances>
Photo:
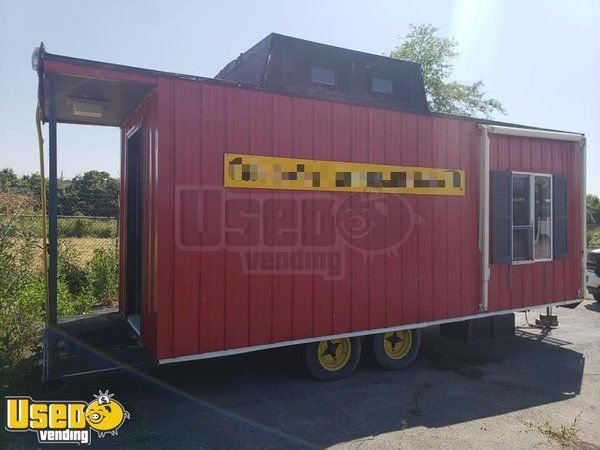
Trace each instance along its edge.
<instances>
[{"instance_id":1,"label":"open covered porch at the left end of the red trailer","mask_svg":"<svg viewBox=\"0 0 600 450\"><path fill-rule=\"evenodd\" d=\"M122 133L132 112L156 89L157 77L53 55L43 44L34 55L38 116L48 123L49 154L43 379L144 366L153 362L140 340L144 134L142 129L126 138ZM121 144L125 147L121 182L106 170L106 151L100 157L103 170L72 179L59 177L58 124L85 125L80 132L83 141L95 146L99 140L90 126L115 127L118 141L113 148L121 153ZM41 133L39 138L42 145ZM102 145L100 151L108 147ZM64 161L82 157L81 145L74 148L72 155L65 148L68 159ZM115 172L118 161L115 155ZM94 160L86 157L83 162ZM72 176L69 170L65 176ZM120 311L114 308L117 302Z\"/></svg>"}]
</instances>

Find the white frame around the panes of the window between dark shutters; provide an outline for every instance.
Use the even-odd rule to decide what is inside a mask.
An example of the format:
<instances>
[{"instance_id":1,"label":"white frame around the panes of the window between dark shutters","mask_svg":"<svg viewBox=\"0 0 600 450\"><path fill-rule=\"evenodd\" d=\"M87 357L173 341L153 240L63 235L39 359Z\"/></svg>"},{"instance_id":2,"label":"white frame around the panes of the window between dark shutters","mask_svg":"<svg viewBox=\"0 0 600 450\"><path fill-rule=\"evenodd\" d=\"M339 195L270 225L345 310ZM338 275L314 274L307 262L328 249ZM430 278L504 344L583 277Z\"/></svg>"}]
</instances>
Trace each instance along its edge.
<instances>
[{"instance_id":1,"label":"white frame around the panes of the window between dark shutters","mask_svg":"<svg viewBox=\"0 0 600 450\"><path fill-rule=\"evenodd\" d=\"M511 265L521 265L521 264L534 264L538 262L548 262L554 261L554 178L551 173L542 173L542 172L518 172L511 171L512 178L514 180L515 175L527 175L529 177L529 219L530 224L528 226L525 225L514 225L514 201L510 202L510 215L511 215L511 223L510 223L510 233L511 233ZM550 179L550 258L539 258L535 257L535 178L536 177L545 177ZM514 183L511 183L511 199L513 198L514 193ZM526 259L522 261L514 260L514 230L526 230L531 229L532 239L531 239L531 257L532 259Z\"/></svg>"}]
</instances>

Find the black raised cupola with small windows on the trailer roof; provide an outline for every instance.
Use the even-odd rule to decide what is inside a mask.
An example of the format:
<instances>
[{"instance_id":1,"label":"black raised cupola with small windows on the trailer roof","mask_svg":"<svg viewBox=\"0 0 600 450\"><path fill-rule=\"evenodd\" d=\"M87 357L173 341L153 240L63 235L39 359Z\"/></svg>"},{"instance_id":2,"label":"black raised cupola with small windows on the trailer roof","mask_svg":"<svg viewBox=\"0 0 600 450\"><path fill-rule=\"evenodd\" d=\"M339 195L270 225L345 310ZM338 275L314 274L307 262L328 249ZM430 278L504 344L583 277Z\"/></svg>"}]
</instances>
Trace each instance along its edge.
<instances>
[{"instance_id":1,"label":"black raised cupola with small windows on the trailer roof","mask_svg":"<svg viewBox=\"0 0 600 450\"><path fill-rule=\"evenodd\" d=\"M275 33L215 78L292 95L429 113L419 64Z\"/></svg>"}]
</instances>

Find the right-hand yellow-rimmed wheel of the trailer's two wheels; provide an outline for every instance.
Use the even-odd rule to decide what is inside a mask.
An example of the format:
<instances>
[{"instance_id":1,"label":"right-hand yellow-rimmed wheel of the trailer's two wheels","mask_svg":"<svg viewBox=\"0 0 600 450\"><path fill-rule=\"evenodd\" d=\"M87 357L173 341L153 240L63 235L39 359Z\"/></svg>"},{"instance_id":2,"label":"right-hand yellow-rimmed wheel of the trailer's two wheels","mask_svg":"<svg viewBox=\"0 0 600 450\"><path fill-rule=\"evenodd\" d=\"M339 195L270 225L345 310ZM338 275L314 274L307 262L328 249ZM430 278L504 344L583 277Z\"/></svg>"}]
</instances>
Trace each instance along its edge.
<instances>
[{"instance_id":1,"label":"right-hand yellow-rimmed wheel of the trailer's two wheels","mask_svg":"<svg viewBox=\"0 0 600 450\"><path fill-rule=\"evenodd\" d=\"M372 337L373 354L381 367L402 369L412 363L421 346L419 330L389 331Z\"/></svg>"}]
</instances>

